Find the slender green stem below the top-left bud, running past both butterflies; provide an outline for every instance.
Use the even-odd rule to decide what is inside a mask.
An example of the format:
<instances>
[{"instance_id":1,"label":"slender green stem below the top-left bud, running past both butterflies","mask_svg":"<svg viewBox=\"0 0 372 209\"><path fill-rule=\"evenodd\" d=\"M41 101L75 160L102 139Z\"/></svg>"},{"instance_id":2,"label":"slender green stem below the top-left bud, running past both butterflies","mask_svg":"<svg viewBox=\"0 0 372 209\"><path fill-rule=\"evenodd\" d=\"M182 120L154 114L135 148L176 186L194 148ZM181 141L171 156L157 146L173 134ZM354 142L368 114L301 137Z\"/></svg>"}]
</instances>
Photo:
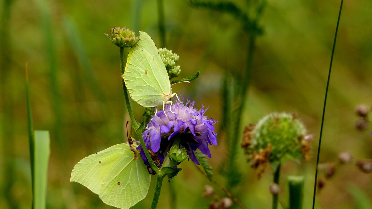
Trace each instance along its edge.
<instances>
[{"instance_id":1,"label":"slender green stem below the top-left bud, running past both butterflies","mask_svg":"<svg viewBox=\"0 0 372 209\"><path fill-rule=\"evenodd\" d=\"M126 49L126 53L124 53L124 47L120 47L120 56L119 57L120 57L121 74L124 74L126 59L128 58L128 49ZM147 158L148 162L150 163L151 168L153 168L152 165L154 164L154 161L151 158L150 153L148 153L145 141L143 140L143 137L142 137L142 131L141 131L141 133L138 133L138 131L137 131L137 129L140 127L140 125L138 124L137 120L134 118L132 108L131 108L131 103L129 103L128 91L126 90L125 81L124 81L123 78L121 79L121 82L122 82L122 85L123 85L125 103L126 103L126 107L128 109L129 117L131 118L132 125L133 125L134 129L136 130L136 134L138 136L138 139L140 139L141 146L142 146L143 151L145 152L146 158ZM153 170L158 170L158 168L157 167L153 168Z\"/></svg>"}]
</instances>

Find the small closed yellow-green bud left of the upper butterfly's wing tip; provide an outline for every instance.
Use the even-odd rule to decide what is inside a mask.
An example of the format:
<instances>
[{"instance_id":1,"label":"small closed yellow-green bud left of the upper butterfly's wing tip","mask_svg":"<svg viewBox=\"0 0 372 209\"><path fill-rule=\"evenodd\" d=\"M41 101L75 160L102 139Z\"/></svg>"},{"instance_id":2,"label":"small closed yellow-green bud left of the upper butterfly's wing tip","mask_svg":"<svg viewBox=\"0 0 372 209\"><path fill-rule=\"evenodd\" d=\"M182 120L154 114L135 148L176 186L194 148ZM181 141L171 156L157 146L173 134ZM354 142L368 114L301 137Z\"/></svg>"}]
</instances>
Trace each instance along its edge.
<instances>
[{"instance_id":1,"label":"small closed yellow-green bud left of the upper butterfly's wing tip","mask_svg":"<svg viewBox=\"0 0 372 209\"><path fill-rule=\"evenodd\" d=\"M135 33L129 28L111 28L110 34L106 34L116 46L119 47L132 47L137 41L138 37Z\"/></svg>"}]
</instances>

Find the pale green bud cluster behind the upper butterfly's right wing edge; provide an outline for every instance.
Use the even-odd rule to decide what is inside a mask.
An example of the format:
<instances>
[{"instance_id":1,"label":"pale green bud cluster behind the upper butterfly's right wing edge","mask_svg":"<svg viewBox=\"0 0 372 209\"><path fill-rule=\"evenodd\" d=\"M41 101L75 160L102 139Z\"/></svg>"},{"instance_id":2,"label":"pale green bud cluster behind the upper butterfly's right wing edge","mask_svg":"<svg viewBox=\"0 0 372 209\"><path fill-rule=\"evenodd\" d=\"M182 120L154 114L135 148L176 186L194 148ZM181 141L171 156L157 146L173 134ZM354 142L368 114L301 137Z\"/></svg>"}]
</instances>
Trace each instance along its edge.
<instances>
[{"instance_id":1,"label":"pale green bud cluster behind the upper butterfly's right wing edge","mask_svg":"<svg viewBox=\"0 0 372 209\"><path fill-rule=\"evenodd\" d=\"M169 79L178 77L181 74L181 67L176 65L176 62L180 59L180 56L167 48L159 48L158 51L167 69Z\"/></svg>"}]
</instances>

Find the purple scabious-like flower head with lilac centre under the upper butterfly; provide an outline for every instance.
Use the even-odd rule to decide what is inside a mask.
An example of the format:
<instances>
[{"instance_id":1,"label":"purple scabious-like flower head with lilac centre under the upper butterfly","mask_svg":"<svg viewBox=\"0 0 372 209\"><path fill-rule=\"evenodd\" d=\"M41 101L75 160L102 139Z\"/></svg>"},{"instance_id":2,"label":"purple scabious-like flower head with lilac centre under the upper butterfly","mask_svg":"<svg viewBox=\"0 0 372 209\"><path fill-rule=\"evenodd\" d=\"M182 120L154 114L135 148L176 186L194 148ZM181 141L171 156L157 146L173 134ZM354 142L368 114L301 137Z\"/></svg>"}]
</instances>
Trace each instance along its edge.
<instances>
[{"instance_id":1,"label":"purple scabious-like flower head with lilac centre under the upper butterfly","mask_svg":"<svg viewBox=\"0 0 372 209\"><path fill-rule=\"evenodd\" d=\"M210 158L208 145L217 145L217 134L213 126L217 121L204 116L209 107L203 109L202 106L198 110L193 107L195 101L189 103L187 98L186 103L177 100L173 105L166 105L164 110L159 110L152 116L142 133L147 149L153 151L161 163L176 138L180 139L180 148L185 147L190 159L196 164L199 164L194 154L196 149ZM142 159L148 164L141 145L137 149L141 150Z\"/></svg>"}]
</instances>

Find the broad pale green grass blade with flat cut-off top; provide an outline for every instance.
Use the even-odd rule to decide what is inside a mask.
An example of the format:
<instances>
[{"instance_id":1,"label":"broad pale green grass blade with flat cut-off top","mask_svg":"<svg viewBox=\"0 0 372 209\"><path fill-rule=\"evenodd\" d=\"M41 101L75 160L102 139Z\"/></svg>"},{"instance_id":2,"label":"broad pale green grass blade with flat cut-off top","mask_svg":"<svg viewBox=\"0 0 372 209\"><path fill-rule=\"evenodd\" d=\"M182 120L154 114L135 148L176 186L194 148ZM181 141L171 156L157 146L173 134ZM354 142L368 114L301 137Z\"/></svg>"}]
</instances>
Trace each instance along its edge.
<instances>
[{"instance_id":1,"label":"broad pale green grass blade with flat cut-off top","mask_svg":"<svg viewBox=\"0 0 372 209\"><path fill-rule=\"evenodd\" d=\"M49 131L34 132L33 150L33 208L45 208L47 199L48 161L50 154Z\"/></svg>"}]
</instances>

